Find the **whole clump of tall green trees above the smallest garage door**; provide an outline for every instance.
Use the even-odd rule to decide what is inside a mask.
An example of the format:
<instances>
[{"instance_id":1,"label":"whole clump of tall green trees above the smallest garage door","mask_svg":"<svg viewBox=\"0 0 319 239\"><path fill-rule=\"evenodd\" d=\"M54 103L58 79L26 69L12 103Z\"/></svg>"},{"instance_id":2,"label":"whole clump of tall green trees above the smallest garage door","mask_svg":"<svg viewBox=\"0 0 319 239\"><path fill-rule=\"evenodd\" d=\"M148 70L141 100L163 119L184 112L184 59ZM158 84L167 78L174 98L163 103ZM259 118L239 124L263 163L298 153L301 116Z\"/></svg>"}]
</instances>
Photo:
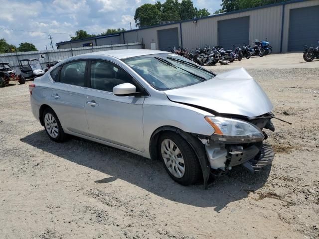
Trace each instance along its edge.
<instances>
[{"instance_id":1,"label":"whole clump of tall green trees above the smallest garage door","mask_svg":"<svg viewBox=\"0 0 319 239\"><path fill-rule=\"evenodd\" d=\"M146 3L135 11L134 20L137 27L158 25L161 21L180 21L194 17L209 16L206 8L197 10L191 0L157 1L155 4Z\"/></svg>"}]
</instances>

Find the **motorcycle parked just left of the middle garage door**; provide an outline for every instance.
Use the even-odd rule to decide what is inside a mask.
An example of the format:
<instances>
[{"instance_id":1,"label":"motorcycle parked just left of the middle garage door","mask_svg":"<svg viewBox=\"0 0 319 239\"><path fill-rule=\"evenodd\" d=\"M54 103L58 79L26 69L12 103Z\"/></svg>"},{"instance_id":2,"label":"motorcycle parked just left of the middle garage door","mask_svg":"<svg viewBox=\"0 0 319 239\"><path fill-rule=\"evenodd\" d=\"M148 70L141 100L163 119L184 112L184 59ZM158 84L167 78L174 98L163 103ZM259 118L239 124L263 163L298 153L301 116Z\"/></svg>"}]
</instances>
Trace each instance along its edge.
<instances>
[{"instance_id":1,"label":"motorcycle parked just left of the middle garage door","mask_svg":"<svg viewBox=\"0 0 319 239\"><path fill-rule=\"evenodd\" d=\"M196 62L199 65L209 65L213 66L219 61L219 52L208 46L197 48L195 51L192 51L189 54L189 57L192 61Z\"/></svg>"}]
</instances>

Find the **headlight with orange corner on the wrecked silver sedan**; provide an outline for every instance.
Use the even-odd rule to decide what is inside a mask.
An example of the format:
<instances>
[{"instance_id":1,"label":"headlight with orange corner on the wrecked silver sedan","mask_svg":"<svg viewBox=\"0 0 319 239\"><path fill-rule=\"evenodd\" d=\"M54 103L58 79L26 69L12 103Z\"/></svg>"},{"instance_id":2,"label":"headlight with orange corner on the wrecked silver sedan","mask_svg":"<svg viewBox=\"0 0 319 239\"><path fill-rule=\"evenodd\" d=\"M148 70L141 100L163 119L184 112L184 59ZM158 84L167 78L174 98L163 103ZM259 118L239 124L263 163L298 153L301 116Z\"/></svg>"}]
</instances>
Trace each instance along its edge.
<instances>
[{"instance_id":1,"label":"headlight with orange corner on the wrecked silver sedan","mask_svg":"<svg viewBox=\"0 0 319 239\"><path fill-rule=\"evenodd\" d=\"M205 119L215 129L212 138L216 141L245 143L264 139L260 128L246 121L213 116L206 116Z\"/></svg>"}]
</instances>

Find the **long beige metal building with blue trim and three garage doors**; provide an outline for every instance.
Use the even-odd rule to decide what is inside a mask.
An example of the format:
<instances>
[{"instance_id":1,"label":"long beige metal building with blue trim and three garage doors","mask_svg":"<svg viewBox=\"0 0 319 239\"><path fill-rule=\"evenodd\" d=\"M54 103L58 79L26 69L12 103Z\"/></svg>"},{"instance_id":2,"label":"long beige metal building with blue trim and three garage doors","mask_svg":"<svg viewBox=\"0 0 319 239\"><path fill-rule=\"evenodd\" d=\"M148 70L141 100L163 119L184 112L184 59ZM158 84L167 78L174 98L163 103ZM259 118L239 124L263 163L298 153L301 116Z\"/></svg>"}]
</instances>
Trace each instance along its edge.
<instances>
[{"instance_id":1,"label":"long beige metal building with blue trim and three garage doors","mask_svg":"<svg viewBox=\"0 0 319 239\"><path fill-rule=\"evenodd\" d=\"M266 37L273 52L302 51L304 44L316 45L319 0L292 0L56 45L61 49L141 42L146 49L165 51L174 46L190 50L206 44L229 49Z\"/></svg>"}]
</instances>

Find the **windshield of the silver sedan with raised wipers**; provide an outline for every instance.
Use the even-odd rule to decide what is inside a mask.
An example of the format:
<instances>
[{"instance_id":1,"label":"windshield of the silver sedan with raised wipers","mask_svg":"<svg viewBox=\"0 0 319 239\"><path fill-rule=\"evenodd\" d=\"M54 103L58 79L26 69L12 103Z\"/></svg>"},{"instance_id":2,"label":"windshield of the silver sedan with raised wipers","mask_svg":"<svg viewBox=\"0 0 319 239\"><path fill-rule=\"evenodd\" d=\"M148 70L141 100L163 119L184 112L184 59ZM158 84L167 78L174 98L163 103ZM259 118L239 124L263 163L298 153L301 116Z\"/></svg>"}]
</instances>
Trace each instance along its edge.
<instances>
[{"instance_id":1,"label":"windshield of the silver sedan with raised wipers","mask_svg":"<svg viewBox=\"0 0 319 239\"><path fill-rule=\"evenodd\" d=\"M157 90L194 85L215 76L186 58L173 53L137 56L123 60Z\"/></svg>"}]
</instances>

